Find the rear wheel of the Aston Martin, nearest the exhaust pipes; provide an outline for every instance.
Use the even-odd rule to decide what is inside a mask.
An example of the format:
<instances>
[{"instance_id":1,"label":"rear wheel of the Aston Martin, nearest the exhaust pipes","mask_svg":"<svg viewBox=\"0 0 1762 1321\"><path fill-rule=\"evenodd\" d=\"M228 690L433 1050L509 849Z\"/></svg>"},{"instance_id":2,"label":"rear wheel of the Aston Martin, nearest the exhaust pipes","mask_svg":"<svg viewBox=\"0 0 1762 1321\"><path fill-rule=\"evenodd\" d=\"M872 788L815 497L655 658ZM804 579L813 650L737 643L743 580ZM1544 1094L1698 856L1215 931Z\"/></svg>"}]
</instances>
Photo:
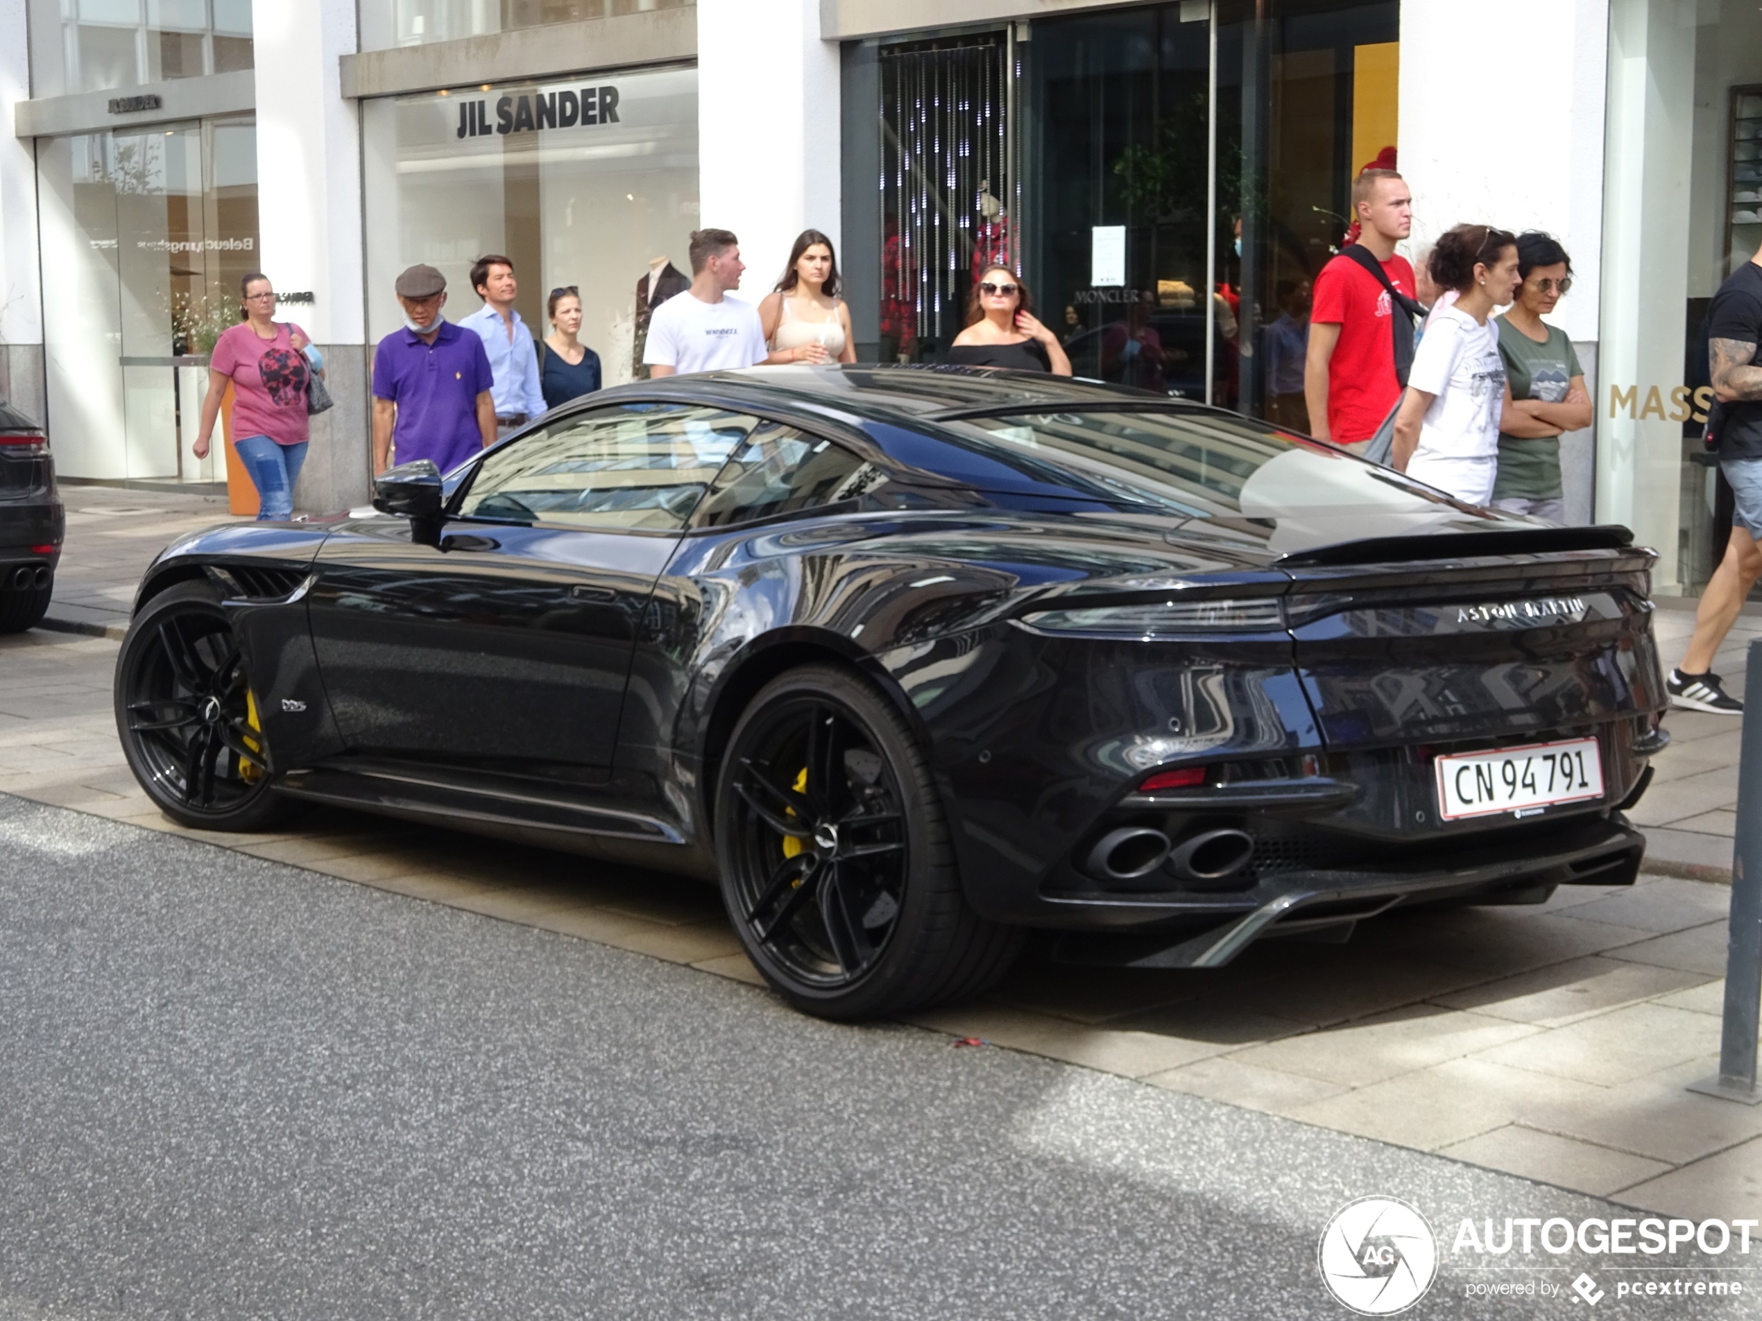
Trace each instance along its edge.
<instances>
[{"instance_id":1,"label":"rear wheel of the Aston Martin, nearest the exhaust pipes","mask_svg":"<svg viewBox=\"0 0 1762 1321\"><path fill-rule=\"evenodd\" d=\"M715 794L722 902L765 979L819 1018L978 995L1022 946L960 891L929 759L862 676L803 666L735 724Z\"/></svg>"}]
</instances>

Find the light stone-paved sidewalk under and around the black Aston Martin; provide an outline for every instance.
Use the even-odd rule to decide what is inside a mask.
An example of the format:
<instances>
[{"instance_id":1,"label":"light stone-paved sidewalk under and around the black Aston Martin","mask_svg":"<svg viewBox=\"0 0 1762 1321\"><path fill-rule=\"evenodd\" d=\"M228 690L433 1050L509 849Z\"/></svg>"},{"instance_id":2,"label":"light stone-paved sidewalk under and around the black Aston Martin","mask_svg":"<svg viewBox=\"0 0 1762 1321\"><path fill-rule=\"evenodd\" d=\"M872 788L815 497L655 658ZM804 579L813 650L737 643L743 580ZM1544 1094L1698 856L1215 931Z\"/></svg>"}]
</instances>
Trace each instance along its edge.
<instances>
[{"instance_id":1,"label":"light stone-paved sidewalk under and around the black Aston Martin","mask_svg":"<svg viewBox=\"0 0 1762 1321\"><path fill-rule=\"evenodd\" d=\"M167 527L224 509L69 493L63 632L0 639L0 793L758 981L692 881L335 808L277 835L173 826L116 745L115 638ZM1688 616L1658 615L1669 655ZM1741 650L1720 657L1734 678ZM987 1000L913 1022L1647 1210L1762 1217L1762 1106L1684 1090L1718 1055L1729 889L1688 877L1729 877L1737 722L1669 727L1642 817L1686 875L1388 914L1344 946L1272 941L1216 972L1062 969L1031 951Z\"/></svg>"}]
</instances>

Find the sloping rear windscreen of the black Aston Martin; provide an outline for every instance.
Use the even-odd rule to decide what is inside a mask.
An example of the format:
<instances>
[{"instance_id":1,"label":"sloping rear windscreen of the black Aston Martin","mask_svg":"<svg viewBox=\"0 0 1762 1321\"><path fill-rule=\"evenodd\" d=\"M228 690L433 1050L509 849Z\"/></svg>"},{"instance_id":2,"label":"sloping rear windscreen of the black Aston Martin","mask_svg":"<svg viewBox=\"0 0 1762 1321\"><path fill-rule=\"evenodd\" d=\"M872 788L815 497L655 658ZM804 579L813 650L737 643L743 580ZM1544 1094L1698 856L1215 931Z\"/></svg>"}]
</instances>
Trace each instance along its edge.
<instances>
[{"instance_id":1,"label":"sloping rear windscreen of the black Aston Martin","mask_svg":"<svg viewBox=\"0 0 1762 1321\"><path fill-rule=\"evenodd\" d=\"M969 444L983 439L990 458L1071 495L1258 523L1274 550L1503 521L1392 469L1247 417L1015 412L950 426Z\"/></svg>"}]
</instances>

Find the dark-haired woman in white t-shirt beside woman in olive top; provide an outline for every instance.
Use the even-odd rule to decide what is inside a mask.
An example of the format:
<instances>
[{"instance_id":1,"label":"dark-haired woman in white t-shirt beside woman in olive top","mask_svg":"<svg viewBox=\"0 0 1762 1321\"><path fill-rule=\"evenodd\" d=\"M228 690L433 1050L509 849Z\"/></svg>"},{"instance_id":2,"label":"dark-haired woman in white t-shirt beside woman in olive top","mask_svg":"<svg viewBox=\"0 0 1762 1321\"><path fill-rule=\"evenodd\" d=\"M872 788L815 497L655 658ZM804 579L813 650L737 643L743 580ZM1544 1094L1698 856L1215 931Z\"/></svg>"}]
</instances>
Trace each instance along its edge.
<instances>
[{"instance_id":1,"label":"dark-haired woman in white t-shirt beside woman in olive top","mask_svg":"<svg viewBox=\"0 0 1762 1321\"><path fill-rule=\"evenodd\" d=\"M1457 225L1438 240L1429 264L1438 289L1457 298L1433 308L1413 351L1390 461L1459 500L1487 504L1505 407L1492 310L1517 294L1517 238L1492 225Z\"/></svg>"}]
</instances>

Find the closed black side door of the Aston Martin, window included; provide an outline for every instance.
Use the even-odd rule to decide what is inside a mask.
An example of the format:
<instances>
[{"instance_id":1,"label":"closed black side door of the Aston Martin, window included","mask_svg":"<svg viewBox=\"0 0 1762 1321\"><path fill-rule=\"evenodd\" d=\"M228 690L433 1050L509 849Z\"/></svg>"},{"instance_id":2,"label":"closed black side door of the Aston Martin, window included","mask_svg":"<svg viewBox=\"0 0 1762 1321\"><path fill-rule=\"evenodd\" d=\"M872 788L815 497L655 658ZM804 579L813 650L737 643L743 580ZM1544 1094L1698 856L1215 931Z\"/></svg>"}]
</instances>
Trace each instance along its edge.
<instances>
[{"instance_id":1,"label":"closed black side door of the Aston Martin, window included","mask_svg":"<svg viewBox=\"0 0 1762 1321\"><path fill-rule=\"evenodd\" d=\"M347 749L603 773L654 581L754 426L678 403L574 412L486 453L439 546L403 518L340 527L308 602Z\"/></svg>"}]
</instances>

